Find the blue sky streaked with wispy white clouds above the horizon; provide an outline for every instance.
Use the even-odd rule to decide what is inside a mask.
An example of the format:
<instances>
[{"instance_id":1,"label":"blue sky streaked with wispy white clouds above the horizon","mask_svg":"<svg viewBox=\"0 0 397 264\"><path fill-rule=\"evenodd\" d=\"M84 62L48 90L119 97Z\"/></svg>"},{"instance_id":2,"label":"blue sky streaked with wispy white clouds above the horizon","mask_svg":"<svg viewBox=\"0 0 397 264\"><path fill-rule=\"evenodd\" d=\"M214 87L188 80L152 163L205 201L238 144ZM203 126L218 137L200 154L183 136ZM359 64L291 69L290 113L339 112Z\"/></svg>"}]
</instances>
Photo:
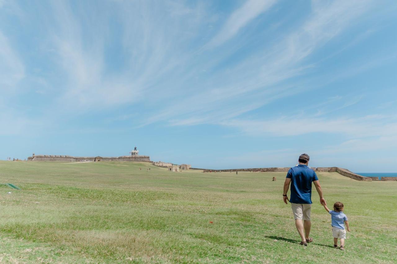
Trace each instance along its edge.
<instances>
[{"instance_id":1,"label":"blue sky streaked with wispy white clouds above the horizon","mask_svg":"<svg viewBox=\"0 0 397 264\"><path fill-rule=\"evenodd\" d=\"M395 1L0 0L0 158L397 170Z\"/></svg>"}]
</instances>

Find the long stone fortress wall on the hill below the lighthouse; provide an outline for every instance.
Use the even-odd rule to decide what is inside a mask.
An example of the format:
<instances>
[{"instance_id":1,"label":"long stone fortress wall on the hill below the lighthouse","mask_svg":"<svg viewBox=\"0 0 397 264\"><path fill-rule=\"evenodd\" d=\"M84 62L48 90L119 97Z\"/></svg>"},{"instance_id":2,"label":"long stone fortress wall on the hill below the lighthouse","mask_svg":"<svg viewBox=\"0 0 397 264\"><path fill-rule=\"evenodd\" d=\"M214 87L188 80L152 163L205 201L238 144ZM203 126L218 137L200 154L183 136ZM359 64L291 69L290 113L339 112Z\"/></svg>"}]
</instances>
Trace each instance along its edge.
<instances>
[{"instance_id":1,"label":"long stone fortress wall on the hill below the lighthouse","mask_svg":"<svg viewBox=\"0 0 397 264\"><path fill-rule=\"evenodd\" d=\"M120 157L73 157L67 155L35 155L27 158L28 161L64 161L64 162L83 162L83 161L143 161L150 162L149 156L120 156Z\"/></svg>"}]
</instances>

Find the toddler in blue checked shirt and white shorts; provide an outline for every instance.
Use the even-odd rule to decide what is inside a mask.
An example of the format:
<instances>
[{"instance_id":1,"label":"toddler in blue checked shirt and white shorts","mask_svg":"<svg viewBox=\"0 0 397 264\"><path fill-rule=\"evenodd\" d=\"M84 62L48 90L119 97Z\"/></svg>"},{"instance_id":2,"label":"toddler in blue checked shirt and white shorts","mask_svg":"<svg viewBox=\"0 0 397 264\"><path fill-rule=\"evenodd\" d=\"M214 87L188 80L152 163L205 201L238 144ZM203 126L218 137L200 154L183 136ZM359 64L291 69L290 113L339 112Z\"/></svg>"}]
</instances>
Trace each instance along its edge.
<instances>
[{"instance_id":1,"label":"toddler in blue checked shirt and white shorts","mask_svg":"<svg viewBox=\"0 0 397 264\"><path fill-rule=\"evenodd\" d=\"M333 235L333 247L336 249L338 247L338 238L341 240L340 250L345 250L345 239L346 239L346 230L350 232L349 222L347 222L347 216L343 213L343 203L336 202L333 205L333 210L328 209L326 205L324 205L324 209L331 214L331 226L332 226L332 235Z\"/></svg>"}]
</instances>

